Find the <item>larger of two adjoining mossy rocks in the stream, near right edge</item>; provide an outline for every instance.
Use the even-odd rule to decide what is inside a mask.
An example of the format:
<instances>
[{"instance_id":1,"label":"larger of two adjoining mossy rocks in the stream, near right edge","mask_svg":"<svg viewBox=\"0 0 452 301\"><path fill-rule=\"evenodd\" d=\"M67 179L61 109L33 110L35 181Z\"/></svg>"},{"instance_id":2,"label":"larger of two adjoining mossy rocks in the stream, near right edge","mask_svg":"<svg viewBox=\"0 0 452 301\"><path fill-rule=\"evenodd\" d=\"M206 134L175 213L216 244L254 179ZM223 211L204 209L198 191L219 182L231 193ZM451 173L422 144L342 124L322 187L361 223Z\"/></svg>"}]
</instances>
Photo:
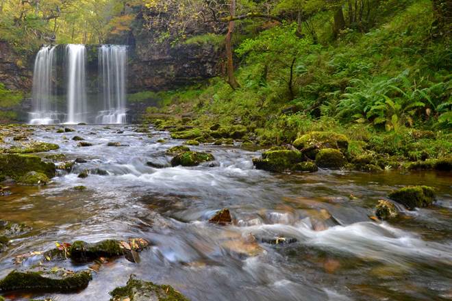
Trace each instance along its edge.
<instances>
[{"instance_id":1,"label":"larger of two adjoining mossy rocks in the stream, near right edge","mask_svg":"<svg viewBox=\"0 0 452 301\"><path fill-rule=\"evenodd\" d=\"M391 192L389 198L399 202L409 210L414 210L416 207L432 205L435 200L435 192L432 187L428 186L409 186Z\"/></svg>"}]
</instances>

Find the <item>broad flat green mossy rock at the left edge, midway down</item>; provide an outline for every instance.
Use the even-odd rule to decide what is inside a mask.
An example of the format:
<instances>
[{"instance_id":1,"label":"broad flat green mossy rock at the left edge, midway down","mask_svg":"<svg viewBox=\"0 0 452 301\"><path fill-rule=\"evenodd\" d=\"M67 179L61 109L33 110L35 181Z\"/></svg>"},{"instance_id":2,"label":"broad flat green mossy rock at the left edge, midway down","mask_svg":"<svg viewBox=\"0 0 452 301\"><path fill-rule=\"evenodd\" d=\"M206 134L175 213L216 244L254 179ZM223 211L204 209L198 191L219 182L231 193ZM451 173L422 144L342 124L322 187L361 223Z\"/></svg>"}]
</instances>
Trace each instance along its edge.
<instances>
[{"instance_id":1,"label":"broad flat green mossy rock at the left edge, midway down","mask_svg":"<svg viewBox=\"0 0 452 301\"><path fill-rule=\"evenodd\" d=\"M55 164L34 155L0 155L0 174L18 180L28 172L40 172L51 179L55 176Z\"/></svg>"}]
</instances>

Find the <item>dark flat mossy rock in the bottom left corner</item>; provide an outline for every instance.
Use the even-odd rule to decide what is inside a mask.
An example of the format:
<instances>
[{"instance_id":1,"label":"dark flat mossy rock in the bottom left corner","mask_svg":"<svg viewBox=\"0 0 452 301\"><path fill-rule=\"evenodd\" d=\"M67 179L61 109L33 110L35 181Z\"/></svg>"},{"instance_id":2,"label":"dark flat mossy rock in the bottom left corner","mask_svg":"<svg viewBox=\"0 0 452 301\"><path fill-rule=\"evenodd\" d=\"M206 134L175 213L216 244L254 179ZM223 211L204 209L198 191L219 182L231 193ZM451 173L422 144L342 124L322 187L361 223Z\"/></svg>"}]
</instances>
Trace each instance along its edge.
<instances>
[{"instance_id":1,"label":"dark flat mossy rock in the bottom left corner","mask_svg":"<svg viewBox=\"0 0 452 301\"><path fill-rule=\"evenodd\" d=\"M88 271L73 272L62 267L36 267L28 271L14 270L0 280L0 291L79 291L88 286L92 279Z\"/></svg>"}]
</instances>

